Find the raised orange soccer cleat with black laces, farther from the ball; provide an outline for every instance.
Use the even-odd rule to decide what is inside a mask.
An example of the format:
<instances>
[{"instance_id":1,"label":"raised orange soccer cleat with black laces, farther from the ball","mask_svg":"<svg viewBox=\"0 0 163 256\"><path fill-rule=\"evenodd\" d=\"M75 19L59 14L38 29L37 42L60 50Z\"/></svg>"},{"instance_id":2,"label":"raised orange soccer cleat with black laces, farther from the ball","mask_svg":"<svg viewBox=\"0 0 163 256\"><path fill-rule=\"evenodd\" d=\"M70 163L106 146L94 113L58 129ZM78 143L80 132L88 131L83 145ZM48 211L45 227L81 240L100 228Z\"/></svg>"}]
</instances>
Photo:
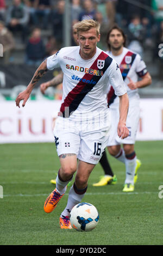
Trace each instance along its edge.
<instances>
[{"instance_id":1,"label":"raised orange soccer cleat with black laces, farther from the ball","mask_svg":"<svg viewBox=\"0 0 163 256\"><path fill-rule=\"evenodd\" d=\"M51 194L47 197L44 204L44 211L49 214L49 212L52 212L55 207L57 206L59 200L64 196L64 194L59 194L55 188Z\"/></svg>"}]
</instances>

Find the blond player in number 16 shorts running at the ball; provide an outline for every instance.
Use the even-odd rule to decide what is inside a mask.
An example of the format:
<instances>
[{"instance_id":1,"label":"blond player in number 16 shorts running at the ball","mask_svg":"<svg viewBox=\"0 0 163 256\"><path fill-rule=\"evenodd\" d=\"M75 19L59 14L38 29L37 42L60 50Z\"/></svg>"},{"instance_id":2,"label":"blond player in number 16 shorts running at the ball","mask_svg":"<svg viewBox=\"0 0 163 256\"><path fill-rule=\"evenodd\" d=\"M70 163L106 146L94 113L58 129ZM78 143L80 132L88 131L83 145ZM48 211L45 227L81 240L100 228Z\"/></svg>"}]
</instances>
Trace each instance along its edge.
<instances>
[{"instance_id":1,"label":"blond player in number 16 shorts running at the ball","mask_svg":"<svg viewBox=\"0 0 163 256\"><path fill-rule=\"evenodd\" d=\"M20 107L23 100L24 107L35 84L47 70L60 67L64 73L62 104L54 128L61 167L56 188L44 204L45 212L52 212L77 171L66 208L60 216L60 227L64 229L72 228L70 211L84 197L89 176L108 142L108 83L112 84L120 98L118 136L124 139L129 135L126 127L129 106L126 86L115 60L97 47L100 40L99 24L94 20L83 20L74 26L78 32L79 46L61 48L58 53L48 57L36 70L26 90L16 98L16 106Z\"/></svg>"}]
</instances>

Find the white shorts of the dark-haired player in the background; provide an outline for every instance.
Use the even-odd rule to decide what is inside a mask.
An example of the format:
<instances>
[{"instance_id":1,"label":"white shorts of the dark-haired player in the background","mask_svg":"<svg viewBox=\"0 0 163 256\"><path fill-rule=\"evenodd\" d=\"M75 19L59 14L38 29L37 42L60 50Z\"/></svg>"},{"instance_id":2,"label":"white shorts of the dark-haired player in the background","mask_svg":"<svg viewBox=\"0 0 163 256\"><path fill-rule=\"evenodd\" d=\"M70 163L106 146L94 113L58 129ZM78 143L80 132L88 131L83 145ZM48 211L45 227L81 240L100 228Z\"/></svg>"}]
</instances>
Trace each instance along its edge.
<instances>
[{"instance_id":1,"label":"white shorts of the dark-haired player in the background","mask_svg":"<svg viewBox=\"0 0 163 256\"><path fill-rule=\"evenodd\" d=\"M111 133L108 140L108 146L120 145L120 144L135 144L137 127L139 125L140 108L139 102L137 105L133 104L129 106L129 111L126 120L126 126L129 129L129 136L125 139L121 139L117 135L117 126L120 114L117 108L110 107L111 115Z\"/></svg>"}]
</instances>

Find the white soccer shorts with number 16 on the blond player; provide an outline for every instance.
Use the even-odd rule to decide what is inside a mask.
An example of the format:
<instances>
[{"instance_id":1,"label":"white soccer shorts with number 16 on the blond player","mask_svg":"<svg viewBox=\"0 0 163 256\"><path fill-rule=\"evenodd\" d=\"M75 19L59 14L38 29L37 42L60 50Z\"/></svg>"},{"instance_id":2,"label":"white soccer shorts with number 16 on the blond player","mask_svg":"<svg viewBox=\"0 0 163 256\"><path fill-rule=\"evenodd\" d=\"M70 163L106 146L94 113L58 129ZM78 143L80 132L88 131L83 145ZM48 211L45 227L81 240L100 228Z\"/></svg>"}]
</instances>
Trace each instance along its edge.
<instances>
[{"instance_id":1,"label":"white soccer shorts with number 16 on the blond player","mask_svg":"<svg viewBox=\"0 0 163 256\"><path fill-rule=\"evenodd\" d=\"M54 127L58 156L76 154L79 160L97 164L108 143L110 121L106 124L80 123L58 117Z\"/></svg>"}]
</instances>

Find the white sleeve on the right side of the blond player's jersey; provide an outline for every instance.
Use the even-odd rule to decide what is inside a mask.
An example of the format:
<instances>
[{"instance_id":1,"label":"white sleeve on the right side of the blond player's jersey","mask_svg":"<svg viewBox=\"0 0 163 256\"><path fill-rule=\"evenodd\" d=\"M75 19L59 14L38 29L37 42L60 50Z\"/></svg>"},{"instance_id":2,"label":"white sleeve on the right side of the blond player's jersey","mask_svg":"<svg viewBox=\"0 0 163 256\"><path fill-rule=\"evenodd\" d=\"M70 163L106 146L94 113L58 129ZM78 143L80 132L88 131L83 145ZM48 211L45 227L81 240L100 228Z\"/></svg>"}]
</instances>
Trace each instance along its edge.
<instances>
[{"instance_id":1,"label":"white sleeve on the right side of the blond player's jersey","mask_svg":"<svg viewBox=\"0 0 163 256\"><path fill-rule=\"evenodd\" d=\"M126 84L123 81L120 67L112 60L108 69L109 84L114 88L115 94L121 96L127 93Z\"/></svg>"}]
</instances>

